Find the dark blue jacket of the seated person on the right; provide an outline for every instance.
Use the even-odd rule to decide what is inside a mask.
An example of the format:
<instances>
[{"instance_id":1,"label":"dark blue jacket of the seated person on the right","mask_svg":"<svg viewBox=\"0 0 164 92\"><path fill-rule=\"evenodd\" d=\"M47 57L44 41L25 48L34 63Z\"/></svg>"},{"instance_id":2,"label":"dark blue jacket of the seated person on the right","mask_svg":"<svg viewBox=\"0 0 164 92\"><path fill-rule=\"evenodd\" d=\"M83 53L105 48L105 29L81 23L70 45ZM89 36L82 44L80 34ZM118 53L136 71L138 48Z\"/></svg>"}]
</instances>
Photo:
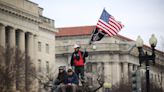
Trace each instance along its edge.
<instances>
[{"instance_id":1,"label":"dark blue jacket of the seated person on the right","mask_svg":"<svg viewBox=\"0 0 164 92\"><path fill-rule=\"evenodd\" d=\"M76 73L73 73L71 76L70 75L67 75L65 77L65 81L64 81L64 84L68 84L68 83L73 83L73 84L79 84L79 79L76 75Z\"/></svg>"}]
</instances>

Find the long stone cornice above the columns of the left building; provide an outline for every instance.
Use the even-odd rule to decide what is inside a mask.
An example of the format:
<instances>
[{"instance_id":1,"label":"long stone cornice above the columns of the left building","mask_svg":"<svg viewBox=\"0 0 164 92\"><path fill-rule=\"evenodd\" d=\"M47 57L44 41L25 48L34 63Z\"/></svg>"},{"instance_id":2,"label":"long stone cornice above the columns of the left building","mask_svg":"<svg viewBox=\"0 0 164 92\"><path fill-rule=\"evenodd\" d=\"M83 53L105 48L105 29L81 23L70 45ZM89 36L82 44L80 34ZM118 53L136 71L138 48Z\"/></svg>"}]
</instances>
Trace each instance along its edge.
<instances>
[{"instance_id":1,"label":"long stone cornice above the columns of the left building","mask_svg":"<svg viewBox=\"0 0 164 92\"><path fill-rule=\"evenodd\" d=\"M24 12L24 10L19 10L19 9L7 6L3 2L0 2L0 11L4 11L6 13L13 14L18 17L21 17L21 18L24 18L24 19L27 19L27 20L30 20L30 21L33 21L36 23L41 22L41 20L39 19L38 16L26 13L26 12Z\"/></svg>"}]
</instances>

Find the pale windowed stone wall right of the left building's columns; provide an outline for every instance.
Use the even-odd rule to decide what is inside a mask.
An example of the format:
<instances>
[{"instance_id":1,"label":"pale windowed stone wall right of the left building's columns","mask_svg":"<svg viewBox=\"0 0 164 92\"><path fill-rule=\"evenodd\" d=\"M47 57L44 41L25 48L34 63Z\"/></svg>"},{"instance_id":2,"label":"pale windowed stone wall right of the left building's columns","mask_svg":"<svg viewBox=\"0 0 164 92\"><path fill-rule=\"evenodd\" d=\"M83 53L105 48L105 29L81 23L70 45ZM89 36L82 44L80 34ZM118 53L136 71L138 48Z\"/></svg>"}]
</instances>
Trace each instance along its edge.
<instances>
[{"instance_id":1,"label":"pale windowed stone wall right of the left building's columns","mask_svg":"<svg viewBox=\"0 0 164 92\"><path fill-rule=\"evenodd\" d=\"M54 34L46 32L46 30L40 29L36 39L36 49L37 49L37 59L36 62L40 59L42 62L43 72L46 71L46 62L49 62L50 72L53 72L53 67L55 66L55 41ZM41 51L38 51L38 42L41 43ZM49 45L49 53L46 52L46 44ZM38 65L38 64L36 64ZM38 67L38 66L37 66Z\"/></svg>"}]
</instances>

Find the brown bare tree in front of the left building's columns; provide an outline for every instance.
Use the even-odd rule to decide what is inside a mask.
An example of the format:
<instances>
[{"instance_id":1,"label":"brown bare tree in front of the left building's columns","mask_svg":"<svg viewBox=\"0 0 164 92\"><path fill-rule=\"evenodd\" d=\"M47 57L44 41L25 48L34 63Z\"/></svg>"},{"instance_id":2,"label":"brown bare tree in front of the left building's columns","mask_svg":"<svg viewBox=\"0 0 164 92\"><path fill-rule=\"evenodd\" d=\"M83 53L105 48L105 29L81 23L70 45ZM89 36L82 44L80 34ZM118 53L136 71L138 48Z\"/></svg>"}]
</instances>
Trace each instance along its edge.
<instances>
[{"instance_id":1,"label":"brown bare tree in front of the left building's columns","mask_svg":"<svg viewBox=\"0 0 164 92\"><path fill-rule=\"evenodd\" d=\"M28 65L25 66L27 63ZM31 65L30 58L27 59L25 53L19 49L9 46L0 47L0 92L27 91L24 87L20 87L22 81L26 83L25 87L30 85L31 81L28 78L35 74Z\"/></svg>"}]
</instances>

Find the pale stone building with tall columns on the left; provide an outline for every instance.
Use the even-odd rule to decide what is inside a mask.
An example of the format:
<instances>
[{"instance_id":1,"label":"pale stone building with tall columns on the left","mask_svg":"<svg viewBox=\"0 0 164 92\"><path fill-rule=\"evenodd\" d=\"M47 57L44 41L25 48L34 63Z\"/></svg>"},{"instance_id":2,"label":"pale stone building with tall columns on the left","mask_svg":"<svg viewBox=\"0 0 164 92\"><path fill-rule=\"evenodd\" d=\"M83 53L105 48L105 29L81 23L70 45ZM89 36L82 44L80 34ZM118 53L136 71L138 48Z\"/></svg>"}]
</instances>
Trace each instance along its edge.
<instances>
[{"instance_id":1,"label":"pale stone building with tall columns on the left","mask_svg":"<svg viewBox=\"0 0 164 92\"><path fill-rule=\"evenodd\" d=\"M43 8L29 0L0 0L0 45L19 48L28 55L35 71L51 72L55 62L54 20L42 15ZM35 79L33 79L34 82ZM15 90L37 92L37 83ZM24 91L20 91L24 92Z\"/></svg>"}]
</instances>

